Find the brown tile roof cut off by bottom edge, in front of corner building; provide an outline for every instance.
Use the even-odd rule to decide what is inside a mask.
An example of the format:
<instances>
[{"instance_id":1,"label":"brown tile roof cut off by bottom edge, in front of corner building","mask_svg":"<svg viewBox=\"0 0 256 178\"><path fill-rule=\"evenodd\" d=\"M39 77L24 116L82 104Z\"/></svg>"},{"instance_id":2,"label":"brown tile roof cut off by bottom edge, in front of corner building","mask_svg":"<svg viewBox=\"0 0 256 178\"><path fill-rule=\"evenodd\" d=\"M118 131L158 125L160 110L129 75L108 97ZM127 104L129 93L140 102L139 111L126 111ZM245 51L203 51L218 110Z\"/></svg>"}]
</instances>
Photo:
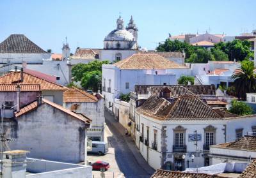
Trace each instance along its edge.
<instances>
[{"instance_id":1,"label":"brown tile roof cut off by bottom edge, in front of corner building","mask_svg":"<svg viewBox=\"0 0 256 178\"><path fill-rule=\"evenodd\" d=\"M218 175L209 175L204 173L187 173L179 171L157 169L150 178L214 178Z\"/></svg>"}]
</instances>

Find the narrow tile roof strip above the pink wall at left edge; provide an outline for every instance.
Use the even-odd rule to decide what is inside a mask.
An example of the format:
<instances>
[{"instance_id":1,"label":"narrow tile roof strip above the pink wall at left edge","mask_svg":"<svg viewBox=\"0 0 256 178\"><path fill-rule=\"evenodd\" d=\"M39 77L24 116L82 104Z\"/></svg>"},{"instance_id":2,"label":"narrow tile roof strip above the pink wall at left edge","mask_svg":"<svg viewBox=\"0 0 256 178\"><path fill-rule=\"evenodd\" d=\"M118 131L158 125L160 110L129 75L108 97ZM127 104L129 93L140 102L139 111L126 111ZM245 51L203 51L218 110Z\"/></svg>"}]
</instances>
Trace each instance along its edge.
<instances>
[{"instance_id":1,"label":"narrow tile roof strip above the pink wall at left edge","mask_svg":"<svg viewBox=\"0 0 256 178\"><path fill-rule=\"evenodd\" d=\"M41 91L39 84L19 84L20 91ZM16 91L17 84L0 84L0 91Z\"/></svg>"}]
</instances>

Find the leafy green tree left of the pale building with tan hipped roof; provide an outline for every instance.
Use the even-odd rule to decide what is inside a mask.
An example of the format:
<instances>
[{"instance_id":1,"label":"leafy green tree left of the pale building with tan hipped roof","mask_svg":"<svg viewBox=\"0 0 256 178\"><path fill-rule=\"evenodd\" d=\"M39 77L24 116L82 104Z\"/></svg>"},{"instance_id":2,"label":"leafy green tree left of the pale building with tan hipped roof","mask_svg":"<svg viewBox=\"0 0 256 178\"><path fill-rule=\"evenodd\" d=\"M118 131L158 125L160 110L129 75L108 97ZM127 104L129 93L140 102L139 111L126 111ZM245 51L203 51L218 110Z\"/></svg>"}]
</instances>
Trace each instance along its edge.
<instances>
[{"instance_id":1,"label":"leafy green tree left of the pale building with tan hipped roof","mask_svg":"<svg viewBox=\"0 0 256 178\"><path fill-rule=\"evenodd\" d=\"M81 81L81 85L85 89L97 91L102 75L102 64L108 63L108 61L95 60L88 64L77 64L72 68L72 77L76 82Z\"/></svg>"}]
</instances>

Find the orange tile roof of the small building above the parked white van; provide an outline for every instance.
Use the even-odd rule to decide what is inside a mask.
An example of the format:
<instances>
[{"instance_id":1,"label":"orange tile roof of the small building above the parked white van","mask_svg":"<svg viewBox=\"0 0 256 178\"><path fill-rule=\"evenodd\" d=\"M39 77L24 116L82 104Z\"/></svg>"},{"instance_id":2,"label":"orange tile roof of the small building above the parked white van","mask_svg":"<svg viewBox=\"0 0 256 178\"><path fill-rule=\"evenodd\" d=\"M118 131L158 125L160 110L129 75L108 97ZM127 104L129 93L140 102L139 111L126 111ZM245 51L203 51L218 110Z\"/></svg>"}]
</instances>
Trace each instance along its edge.
<instances>
[{"instance_id":1,"label":"orange tile roof of the small building above the parked white van","mask_svg":"<svg viewBox=\"0 0 256 178\"><path fill-rule=\"evenodd\" d=\"M63 102L64 103L92 103L97 102L98 99L92 94L86 93L81 89L77 89L76 87L71 87L67 91L63 93Z\"/></svg>"}]
</instances>

